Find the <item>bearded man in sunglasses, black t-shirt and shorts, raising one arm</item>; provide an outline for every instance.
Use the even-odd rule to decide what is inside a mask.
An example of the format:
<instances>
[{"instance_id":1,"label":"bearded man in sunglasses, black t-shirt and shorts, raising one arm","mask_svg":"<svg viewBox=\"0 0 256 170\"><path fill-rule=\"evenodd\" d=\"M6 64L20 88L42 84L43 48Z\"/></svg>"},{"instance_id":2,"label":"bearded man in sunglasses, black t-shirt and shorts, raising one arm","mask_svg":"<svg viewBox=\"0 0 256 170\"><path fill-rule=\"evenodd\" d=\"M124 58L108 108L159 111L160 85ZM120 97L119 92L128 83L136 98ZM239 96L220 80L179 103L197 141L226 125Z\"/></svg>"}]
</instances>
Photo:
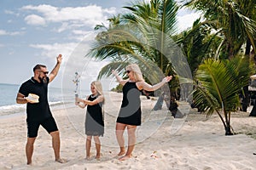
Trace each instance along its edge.
<instances>
[{"instance_id":1,"label":"bearded man in sunglasses, black t-shirt and shorts, raising one arm","mask_svg":"<svg viewBox=\"0 0 256 170\"><path fill-rule=\"evenodd\" d=\"M57 57L55 68L49 73L45 65L35 65L33 68L34 76L23 82L17 94L16 102L26 104L26 159L27 164L32 164L33 144L38 136L38 128L41 125L52 137L52 146L55 152L55 161L66 162L60 156L60 133L55 123L55 119L49 110L48 103L48 84L53 81L61 66L62 55ZM49 76L47 76L49 73ZM38 95L38 101L27 98L28 94Z\"/></svg>"}]
</instances>

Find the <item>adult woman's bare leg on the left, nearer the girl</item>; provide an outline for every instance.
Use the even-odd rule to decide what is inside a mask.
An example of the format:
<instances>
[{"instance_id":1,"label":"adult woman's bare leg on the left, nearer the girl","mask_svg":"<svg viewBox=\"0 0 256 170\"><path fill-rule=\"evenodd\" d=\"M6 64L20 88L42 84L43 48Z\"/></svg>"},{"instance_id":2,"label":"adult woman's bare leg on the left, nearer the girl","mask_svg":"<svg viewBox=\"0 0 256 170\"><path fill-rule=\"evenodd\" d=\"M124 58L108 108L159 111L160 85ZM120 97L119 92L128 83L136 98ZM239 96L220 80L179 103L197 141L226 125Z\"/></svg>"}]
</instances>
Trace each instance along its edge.
<instances>
[{"instance_id":1,"label":"adult woman's bare leg on the left, nearer the girl","mask_svg":"<svg viewBox=\"0 0 256 170\"><path fill-rule=\"evenodd\" d=\"M120 151L118 156L123 156L125 155L125 139L124 139L124 131L125 131L125 127L127 125L123 124L123 123L116 123L116 127L115 127L115 134L116 134L116 139L119 143L119 147L120 147Z\"/></svg>"}]
</instances>

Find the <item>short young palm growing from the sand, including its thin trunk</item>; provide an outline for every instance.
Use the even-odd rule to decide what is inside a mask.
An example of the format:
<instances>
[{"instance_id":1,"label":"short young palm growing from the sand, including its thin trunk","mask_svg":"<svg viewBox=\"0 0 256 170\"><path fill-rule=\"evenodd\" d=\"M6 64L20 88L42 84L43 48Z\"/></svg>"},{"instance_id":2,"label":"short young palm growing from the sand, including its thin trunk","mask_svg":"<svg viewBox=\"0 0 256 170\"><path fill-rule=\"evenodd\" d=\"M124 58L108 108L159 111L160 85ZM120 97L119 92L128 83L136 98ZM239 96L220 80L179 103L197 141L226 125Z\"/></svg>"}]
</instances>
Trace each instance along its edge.
<instances>
[{"instance_id":1,"label":"short young palm growing from the sand, including its thin trunk","mask_svg":"<svg viewBox=\"0 0 256 170\"><path fill-rule=\"evenodd\" d=\"M231 112L239 108L238 94L252 71L248 63L247 58L240 57L206 59L195 73L195 105L207 111L207 116L216 112L223 122L225 135L233 134Z\"/></svg>"}]
</instances>

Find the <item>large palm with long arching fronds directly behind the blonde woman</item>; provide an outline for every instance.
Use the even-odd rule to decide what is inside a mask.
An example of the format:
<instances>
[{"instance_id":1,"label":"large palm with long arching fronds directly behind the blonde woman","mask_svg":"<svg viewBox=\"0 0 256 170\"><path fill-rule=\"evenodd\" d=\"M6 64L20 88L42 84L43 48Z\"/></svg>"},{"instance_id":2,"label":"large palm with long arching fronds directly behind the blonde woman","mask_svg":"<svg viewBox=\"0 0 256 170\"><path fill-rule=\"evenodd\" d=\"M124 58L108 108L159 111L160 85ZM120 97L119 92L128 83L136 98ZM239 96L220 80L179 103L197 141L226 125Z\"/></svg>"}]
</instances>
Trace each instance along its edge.
<instances>
[{"instance_id":1,"label":"large palm with long arching fronds directly behind the blonde woman","mask_svg":"<svg viewBox=\"0 0 256 170\"><path fill-rule=\"evenodd\" d=\"M109 76L113 69L123 71L129 63L137 63L152 84L165 75L191 79L189 65L172 40L177 32L177 3L151 0L125 8L130 12L120 14L119 22L113 22L118 24L100 32L90 50L89 56L110 61L98 78Z\"/></svg>"}]
</instances>

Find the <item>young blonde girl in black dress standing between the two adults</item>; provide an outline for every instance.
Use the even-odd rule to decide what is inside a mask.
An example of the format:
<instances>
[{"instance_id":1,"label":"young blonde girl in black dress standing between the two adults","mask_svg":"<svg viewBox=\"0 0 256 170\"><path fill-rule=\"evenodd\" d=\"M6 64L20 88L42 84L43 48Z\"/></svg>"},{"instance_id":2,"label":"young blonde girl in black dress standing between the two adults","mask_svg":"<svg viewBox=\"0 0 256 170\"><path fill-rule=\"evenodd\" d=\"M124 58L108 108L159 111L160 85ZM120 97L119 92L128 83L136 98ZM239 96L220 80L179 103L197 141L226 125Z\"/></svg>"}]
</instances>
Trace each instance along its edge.
<instances>
[{"instance_id":1,"label":"young blonde girl in black dress standing between the two adults","mask_svg":"<svg viewBox=\"0 0 256 170\"><path fill-rule=\"evenodd\" d=\"M102 83L99 81L91 82L90 91L91 94L87 99L77 98L76 105L79 105L81 108L87 105L84 123L85 134L87 135L85 144L86 159L90 159L90 145L93 137L96 144L96 159L99 160L101 156L101 141L99 137L104 134Z\"/></svg>"}]
</instances>

